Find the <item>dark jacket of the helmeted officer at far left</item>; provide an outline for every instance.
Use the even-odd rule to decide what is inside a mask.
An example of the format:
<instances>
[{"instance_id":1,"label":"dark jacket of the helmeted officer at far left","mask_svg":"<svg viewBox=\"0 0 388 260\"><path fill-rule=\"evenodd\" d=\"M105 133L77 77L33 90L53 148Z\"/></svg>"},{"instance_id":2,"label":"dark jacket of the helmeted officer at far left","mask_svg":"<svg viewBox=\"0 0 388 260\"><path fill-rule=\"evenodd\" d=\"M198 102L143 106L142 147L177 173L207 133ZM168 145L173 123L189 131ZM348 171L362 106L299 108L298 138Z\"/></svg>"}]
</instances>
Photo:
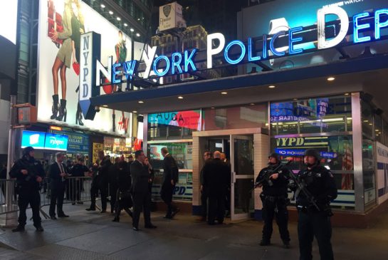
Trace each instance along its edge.
<instances>
[{"instance_id":1,"label":"dark jacket of the helmeted officer at far left","mask_svg":"<svg viewBox=\"0 0 388 260\"><path fill-rule=\"evenodd\" d=\"M28 175L23 175L21 170L27 170ZM44 170L41 162L35 160L33 157L23 156L17 160L9 172L11 178L16 178L18 186L23 189L24 187L30 189L39 189L39 182L36 181L36 177L44 178Z\"/></svg>"}]
</instances>

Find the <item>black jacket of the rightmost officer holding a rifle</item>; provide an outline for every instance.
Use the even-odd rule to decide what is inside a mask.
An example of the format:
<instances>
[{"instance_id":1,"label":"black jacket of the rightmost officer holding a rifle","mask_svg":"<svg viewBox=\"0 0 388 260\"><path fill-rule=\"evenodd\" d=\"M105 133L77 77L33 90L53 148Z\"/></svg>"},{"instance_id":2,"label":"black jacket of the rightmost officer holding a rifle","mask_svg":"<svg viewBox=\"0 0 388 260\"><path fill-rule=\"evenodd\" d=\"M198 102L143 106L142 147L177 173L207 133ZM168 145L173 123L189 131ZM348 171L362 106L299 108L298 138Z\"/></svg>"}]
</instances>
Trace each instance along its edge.
<instances>
[{"instance_id":1,"label":"black jacket of the rightmost officer holding a rifle","mask_svg":"<svg viewBox=\"0 0 388 260\"><path fill-rule=\"evenodd\" d=\"M330 204L332 199L337 198L337 187L330 170L322 165L316 165L311 170L305 169L298 173L298 180L303 181L306 189L313 195L318 207ZM303 207L312 207L311 202L303 192L298 192L296 204Z\"/></svg>"}]
</instances>

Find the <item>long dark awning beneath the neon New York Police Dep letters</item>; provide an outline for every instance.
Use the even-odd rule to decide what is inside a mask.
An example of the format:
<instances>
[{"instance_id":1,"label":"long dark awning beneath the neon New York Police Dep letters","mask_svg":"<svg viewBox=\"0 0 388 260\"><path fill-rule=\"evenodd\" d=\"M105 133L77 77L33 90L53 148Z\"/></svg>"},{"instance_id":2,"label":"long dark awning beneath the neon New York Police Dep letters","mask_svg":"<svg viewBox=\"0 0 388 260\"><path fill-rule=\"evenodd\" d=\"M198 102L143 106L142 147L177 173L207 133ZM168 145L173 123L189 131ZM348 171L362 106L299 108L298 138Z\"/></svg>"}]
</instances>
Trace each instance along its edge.
<instances>
[{"instance_id":1,"label":"long dark awning beneath the neon New York Police Dep letters","mask_svg":"<svg viewBox=\"0 0 388 260\"><path fill-rule=\"evenodd\" d=\"M327 77L335 77L328 82ZM91 98L92 105L137 113L157 113L228 105L261 103L271 100L335 95L367 90L381 109L388 104L388 53L352 58L335 63L243 76L166 85ZM276 85L276 88L268 88ZM226 91L227 95L221 95ZM379 93L377 95L377 93ZM178 99L178 96L183 99ZM142 101L143 103L139 103Z\"/></svg>"}]
</instances>

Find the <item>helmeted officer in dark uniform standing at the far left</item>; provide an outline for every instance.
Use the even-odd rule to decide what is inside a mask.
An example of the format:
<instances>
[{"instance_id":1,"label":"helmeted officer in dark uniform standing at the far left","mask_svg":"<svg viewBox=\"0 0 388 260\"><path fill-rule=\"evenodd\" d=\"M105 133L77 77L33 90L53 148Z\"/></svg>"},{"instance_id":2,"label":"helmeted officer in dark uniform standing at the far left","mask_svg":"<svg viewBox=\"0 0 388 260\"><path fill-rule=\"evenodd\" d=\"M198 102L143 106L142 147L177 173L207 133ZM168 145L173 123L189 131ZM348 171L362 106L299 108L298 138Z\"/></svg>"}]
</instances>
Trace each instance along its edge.
<instances>
[{"instance_id":1,"label":"helmeted officer in dark uniform standing at the far left","mask_svg":"<svg viewBox=\"0 0 388 260\"><path fill-rule=\"evenodd\" d=\"M11 168L9 175L16 178L18 187L18 204L19 204L19 225L12 232L23 232L26 225L27 216L26 209L28 204L31 205L33 226L37 232L43 232L41 226L41 216L39 215L39 207L41 204L41 196L39 194L39 184L44 177L44 170L41 162L33 157L34 149L31 146L24 148L23 157L17 160Z\"/></svg>"}]
</instances>

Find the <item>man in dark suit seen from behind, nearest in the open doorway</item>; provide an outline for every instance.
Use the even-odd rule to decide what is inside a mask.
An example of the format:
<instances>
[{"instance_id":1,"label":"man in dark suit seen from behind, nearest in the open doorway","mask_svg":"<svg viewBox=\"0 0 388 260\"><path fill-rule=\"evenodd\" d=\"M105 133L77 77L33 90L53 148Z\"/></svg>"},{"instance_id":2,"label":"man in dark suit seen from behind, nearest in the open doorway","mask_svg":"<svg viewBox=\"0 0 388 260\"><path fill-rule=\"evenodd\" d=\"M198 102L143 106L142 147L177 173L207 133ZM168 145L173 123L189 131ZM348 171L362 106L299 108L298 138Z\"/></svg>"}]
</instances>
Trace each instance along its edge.
<instances>
[{"instance_id":1,"label":"man in dark suit seen from behind, nearest in the open doorway","mask_svg":"<svg viewBox=\"0 0 388 260\"><path fill-rule=\"evenodd\" d=\"M231 169L221 161L221 152L214 152L214 159L204 166L204 189L209 197L208 223L214 224L217 217L219 224L224 223L226 190Z\"/></svg>"}]
</instances>

